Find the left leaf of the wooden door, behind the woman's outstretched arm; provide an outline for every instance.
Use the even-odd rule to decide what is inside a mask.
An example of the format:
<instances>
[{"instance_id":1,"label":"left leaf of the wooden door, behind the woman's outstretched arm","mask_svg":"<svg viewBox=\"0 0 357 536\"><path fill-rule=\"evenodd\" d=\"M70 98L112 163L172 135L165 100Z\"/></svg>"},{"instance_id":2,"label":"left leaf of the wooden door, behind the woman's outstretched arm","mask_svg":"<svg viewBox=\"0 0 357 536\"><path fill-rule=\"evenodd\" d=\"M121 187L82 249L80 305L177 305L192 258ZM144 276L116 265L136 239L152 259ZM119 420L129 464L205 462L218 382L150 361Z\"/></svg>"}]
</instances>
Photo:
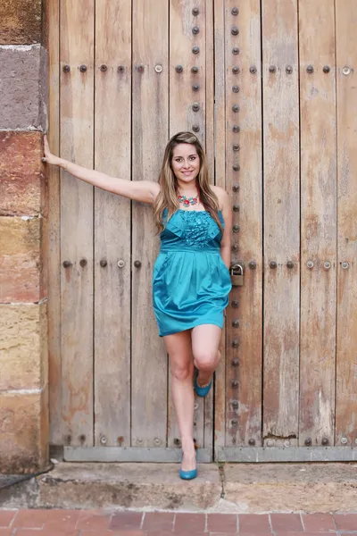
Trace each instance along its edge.
<instances>
[{"instance_id":1,"label":"left leaf of the wooden door, behind the woman's outstretched arm","mask_svg":"<svg viewBox=\"0 0 357 536\"><path fill-rule=\"evenodd\" d=\"M53 2L53 147L112 176L157 180L169 137L195 130L213 179L212 13L203 0ZM68 460L179 461L168 356L152 308L152 208L64 173L56 200L62 277L52 272L51 284L62 313L56 322L58 311L50 312L61 332L51 348L51 440ZM212 401L211 393L195 405L202 461L212 460Z\"/></svg>"}]
</instances>

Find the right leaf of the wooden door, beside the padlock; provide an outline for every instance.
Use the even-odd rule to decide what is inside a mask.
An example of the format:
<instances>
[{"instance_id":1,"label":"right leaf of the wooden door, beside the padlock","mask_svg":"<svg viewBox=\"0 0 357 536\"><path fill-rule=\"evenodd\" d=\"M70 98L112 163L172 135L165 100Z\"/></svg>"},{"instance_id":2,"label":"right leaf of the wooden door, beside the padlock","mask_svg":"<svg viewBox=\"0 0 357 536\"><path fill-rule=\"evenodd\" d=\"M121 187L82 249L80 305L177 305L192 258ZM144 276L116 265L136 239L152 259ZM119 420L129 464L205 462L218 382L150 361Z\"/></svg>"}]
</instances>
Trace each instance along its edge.
<instances>
[{"instance_id":1,"label":"right leaf of the wooden door, beside the padlock","mask_svg":"<svg viewBox=\"0 0 357 536\"><path fill-rule=\"evenodd\" d=\"M215 13L216 172L245 268L228 310L216 459L353 460L357 6L216 0Z\"/></svg>"}]
</instances>

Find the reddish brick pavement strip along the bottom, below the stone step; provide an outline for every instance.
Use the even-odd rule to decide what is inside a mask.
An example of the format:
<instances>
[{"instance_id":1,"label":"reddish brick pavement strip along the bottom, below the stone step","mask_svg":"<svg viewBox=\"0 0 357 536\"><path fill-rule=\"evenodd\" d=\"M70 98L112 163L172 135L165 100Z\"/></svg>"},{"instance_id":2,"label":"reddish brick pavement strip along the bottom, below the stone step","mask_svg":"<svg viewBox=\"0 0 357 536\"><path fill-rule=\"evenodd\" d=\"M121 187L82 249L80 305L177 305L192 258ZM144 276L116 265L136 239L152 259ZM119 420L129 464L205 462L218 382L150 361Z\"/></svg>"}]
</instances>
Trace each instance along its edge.
<instances>
[{"instance_id":1,"label":"reddish brick pavement strip along the bottom, below the stone step","mask_svg":"<svg viewBox=\"0 0 357 536\"><path fill-rule=\"evenodd\" d=\"M0 510L0 536L352 536L357 514Z\"/></svg>"}]
</instances>

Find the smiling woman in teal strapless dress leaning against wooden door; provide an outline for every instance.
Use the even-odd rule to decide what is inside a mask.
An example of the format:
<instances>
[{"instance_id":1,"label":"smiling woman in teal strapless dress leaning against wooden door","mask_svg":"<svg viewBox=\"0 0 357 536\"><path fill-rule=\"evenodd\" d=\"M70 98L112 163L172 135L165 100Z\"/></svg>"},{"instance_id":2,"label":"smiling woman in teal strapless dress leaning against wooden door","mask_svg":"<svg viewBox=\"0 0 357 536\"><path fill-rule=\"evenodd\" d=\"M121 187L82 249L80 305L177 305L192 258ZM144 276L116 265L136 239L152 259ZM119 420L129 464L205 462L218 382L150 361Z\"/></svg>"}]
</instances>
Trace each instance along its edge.
<instances>
[{"instance_id":1,"label":"smiling woman in teal strapless dress leaning against wooden door","mask_svg":"<svg viewBox=\"0 0 357 536\"><path fill-rule=\"evenodd\" d=\"M183 450L179 475L191 480L197 475L195 393L204 397L211 389L231 289L228 194L209 184L203 147L191 132L170 139L158 183L116 179L58 158L46 138L43 160L97 188L154 206L162 245L154 264L154 313L170 356Z\"/></svg>"}]
</instances>

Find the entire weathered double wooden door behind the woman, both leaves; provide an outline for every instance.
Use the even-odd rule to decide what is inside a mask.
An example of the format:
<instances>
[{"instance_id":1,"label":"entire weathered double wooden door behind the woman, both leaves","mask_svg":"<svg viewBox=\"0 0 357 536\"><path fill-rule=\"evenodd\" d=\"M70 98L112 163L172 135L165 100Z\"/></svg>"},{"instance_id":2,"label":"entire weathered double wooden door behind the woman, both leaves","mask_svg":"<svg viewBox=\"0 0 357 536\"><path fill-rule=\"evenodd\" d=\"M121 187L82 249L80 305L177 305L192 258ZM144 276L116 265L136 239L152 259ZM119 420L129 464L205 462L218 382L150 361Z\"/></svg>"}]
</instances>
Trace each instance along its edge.
<instances>
[{"instance_id":1,"label":"entire weathered double wooden door behind the woman, both leaves","mask_svg":"<svg viewBox=\"0 0 357 536\"><path fill-rule=\"evenodd\" d=\"M232 289L199 460L356 457L357 7L348 0L50 2L50 141L157 180L179 130L232 203ZM51 442L179 461L152 309L152 209L50 175Z\"/></svg>"}]
</instances>

